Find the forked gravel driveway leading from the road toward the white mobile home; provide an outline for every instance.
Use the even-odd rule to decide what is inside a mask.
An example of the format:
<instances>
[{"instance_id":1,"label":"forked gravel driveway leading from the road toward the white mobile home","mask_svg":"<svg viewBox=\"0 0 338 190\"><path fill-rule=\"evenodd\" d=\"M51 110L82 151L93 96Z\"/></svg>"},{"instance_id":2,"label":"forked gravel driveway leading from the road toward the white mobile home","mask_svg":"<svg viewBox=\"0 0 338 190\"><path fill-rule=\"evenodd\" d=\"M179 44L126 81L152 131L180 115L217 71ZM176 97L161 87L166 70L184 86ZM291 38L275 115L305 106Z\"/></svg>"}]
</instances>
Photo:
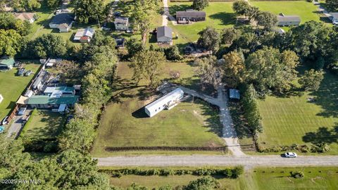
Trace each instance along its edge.
<instances>
[{"instance_id":1,"label":"forked gravel driveway leading from the road toward the white mobile home","mask_svg":"<svg viewBox=\"0 0 338 190\"><path fill-rule=\"evenodd\" d=\"M234 123L232 122L232 118L230 115L230 110L227 108L227 93L225 91L225 87L220 85L218 87L218 96L217 98L213 98L211 96L207 96L206 94L202 94L200 92L194 91L192 89L187 89L185 87L180 87L186 94L190 94L195 97L199 97L208 103L211 103L220 108L220 122L223 125L223 139L227 144L227 148L232 152L234 156L245 156L245 153L242 152L241 146L239 145L239 140L237 138L237 133L234 129Z\"/></svg>"}]
</instances>

